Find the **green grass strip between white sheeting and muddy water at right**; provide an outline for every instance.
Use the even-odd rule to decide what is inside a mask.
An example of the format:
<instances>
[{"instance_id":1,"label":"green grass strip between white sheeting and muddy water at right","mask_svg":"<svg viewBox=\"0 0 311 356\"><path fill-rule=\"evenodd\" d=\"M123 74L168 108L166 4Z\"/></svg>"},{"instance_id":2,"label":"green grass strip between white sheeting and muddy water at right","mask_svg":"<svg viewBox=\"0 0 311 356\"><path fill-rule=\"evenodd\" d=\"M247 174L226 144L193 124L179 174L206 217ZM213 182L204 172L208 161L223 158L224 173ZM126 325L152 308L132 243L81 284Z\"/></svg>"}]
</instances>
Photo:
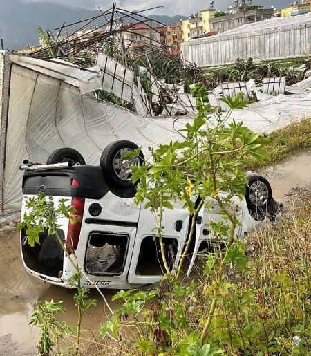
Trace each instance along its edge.
<instances>
[{"instance_id":1,"label":"green grass strip between white sheeting and muddy water at right","mask_svg":"<svg viewBox=\"0 0 311 356\"><path fill-rule=\"evenodd\" d=\"M270 135L270 146L266 150L270 153L271 160L263 160L258 163L252 160L247 168L258 168L279 163L288 158L288 155L297 151L305 151L311 148L311 118L280 129Z\"/></svg>"}]
</instances>

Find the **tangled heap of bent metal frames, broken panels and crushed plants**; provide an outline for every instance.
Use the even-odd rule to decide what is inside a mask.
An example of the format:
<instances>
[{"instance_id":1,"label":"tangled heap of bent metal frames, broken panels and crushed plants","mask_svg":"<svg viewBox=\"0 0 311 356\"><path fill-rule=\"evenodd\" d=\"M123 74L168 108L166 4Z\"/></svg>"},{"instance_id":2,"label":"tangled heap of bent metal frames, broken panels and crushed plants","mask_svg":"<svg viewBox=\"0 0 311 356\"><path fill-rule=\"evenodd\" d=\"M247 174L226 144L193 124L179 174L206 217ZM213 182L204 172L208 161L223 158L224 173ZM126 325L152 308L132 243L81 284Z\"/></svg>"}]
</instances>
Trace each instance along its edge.
<instances>
[{"instance_id":1,"label":"tangled heap of bent metal frames, broken panels and crushed plants","mask_svg":"<svg viewBox=\"0 0 311 356\"><path fill-rule=\"evenodd\" d=\"M302 93L293 84L310 75L311 59L255 64L248 58L237 59L234 66L197 68L167 46L164 24L144 16L147 10L131 12L114 3L95 17L62 24L55 28L57 35L40 29L44 46L31 55L99 67L103 75L96 97L140 115L193 115L196 103L190 91L196 82L209 88L211 106L223 110L227 108L219 99L240 92L250 102ZM74 28L70 35L69 28Z\"/></svg>"}]
</instances>

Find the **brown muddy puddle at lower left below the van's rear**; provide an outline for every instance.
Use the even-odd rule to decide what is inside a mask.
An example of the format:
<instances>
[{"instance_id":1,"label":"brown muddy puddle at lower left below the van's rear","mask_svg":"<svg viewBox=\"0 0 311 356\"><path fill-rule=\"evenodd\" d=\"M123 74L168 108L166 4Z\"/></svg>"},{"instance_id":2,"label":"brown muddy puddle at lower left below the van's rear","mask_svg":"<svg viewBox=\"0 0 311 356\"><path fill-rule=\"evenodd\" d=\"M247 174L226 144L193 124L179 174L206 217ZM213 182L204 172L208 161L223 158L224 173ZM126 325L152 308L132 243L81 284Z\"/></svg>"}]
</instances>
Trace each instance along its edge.
<instances>
[{"instance_id":1,"label":"brown muddy puddle at lower left below the van's rear","mask_svg":"<svg viewBox=\"0 0 311 356\"><path fill-rule=\"evenodd\" d=\"M44 283L28 274L21 262L19 234L0 234L0 355L37 355L39 329L28 325L37 297L43 301L64 301L66 313L59 318L75 326L77 311L73 294L75 290ZM106 290L104 294L111 308L117 308L117 303L111 303L115 290ZM84 315L84 330L98 330L109 314L96 290L91 290L91 297L97 299L97 307Z\"/></svg>"}]
</instances>

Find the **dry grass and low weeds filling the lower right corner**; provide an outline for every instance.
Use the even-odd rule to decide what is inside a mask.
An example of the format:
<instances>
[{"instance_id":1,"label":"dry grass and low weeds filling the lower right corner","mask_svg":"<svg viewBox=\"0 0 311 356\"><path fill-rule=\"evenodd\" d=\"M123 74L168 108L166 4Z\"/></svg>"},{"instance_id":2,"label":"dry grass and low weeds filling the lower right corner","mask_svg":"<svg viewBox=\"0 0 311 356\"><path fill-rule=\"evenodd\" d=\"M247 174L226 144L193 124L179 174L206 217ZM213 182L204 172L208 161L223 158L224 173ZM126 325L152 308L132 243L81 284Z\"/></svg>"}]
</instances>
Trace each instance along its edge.
<instances>
[{"instance_id":1,"label":"dry grass and low weeds filling the lower right corner","mask_svg":"<svg viewBox=\"0 0 311 356\"><path fill-rule=\"evenodd\" d=\"M310 214L310 194L299 191L279 223L267 223L243 240L247 264L241 268L227 263L220 283L219 301L207 337L214 352L190 352L193 348L200 350L200 341L194 335L198 332L200 336L215 285L212 262L216 260L212 254L201 252L195 281L174 284L170 297L164 288L160 299L142 309L140 325L148 325L144 329L148 344L135 339L133 328L124 328L119 339L99 339L100 343L89 346L86 355L311 355ZM241 259L242 255L236 254L236 258ZM189 288L191 285L194 287ZM177 304L173 304L176 299ZM125 323L129 315L122 318ZM174 344L159 343L159 330L163 341L171 336L171 328L176 328L176 324L170 324L171 319L181 323L178 337L173 339ZM167 332L163 333L163 328ZM144 345L149 345L150 350L146 348L142 353ZM186 351L175 353L173 347L186 347Z\"/></svg>"}]
</instances>

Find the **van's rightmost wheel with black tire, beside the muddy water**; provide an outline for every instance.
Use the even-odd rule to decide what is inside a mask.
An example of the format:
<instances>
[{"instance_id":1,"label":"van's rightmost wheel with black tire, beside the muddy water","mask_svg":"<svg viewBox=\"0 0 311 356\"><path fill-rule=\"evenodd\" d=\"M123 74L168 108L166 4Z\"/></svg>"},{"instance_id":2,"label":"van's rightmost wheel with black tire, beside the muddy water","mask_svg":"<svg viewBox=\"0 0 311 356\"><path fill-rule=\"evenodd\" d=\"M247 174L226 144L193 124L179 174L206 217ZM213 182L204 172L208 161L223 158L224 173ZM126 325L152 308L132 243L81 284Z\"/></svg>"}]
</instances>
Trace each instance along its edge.
<instances>
[{"instance_id":1,"label":"van's rightmost wheel with black tire, beside the muddy water","mask_svg":"<svg viewBox=\"0 0 311 356\"><path fill-rule=\"evenodd\" d=\"M272 199L270 182L262 176L249 176L247 180L245 199L249 211L265 214ZM261 194L261 196L258 196L258 194Z\"/></svg>"}]
</instances>

